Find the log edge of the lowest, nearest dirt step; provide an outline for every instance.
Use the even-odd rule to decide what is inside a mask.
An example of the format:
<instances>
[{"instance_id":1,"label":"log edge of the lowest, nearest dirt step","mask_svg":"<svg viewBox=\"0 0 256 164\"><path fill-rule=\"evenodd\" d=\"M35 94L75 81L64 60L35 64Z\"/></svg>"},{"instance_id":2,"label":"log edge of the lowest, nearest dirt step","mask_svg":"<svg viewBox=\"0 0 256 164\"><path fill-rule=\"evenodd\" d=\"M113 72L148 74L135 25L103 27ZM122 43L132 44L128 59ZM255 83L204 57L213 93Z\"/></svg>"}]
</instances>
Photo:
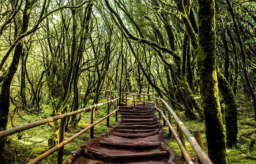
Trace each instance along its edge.
<instances>
[{"instance_id":1,"label":"log edge of the lowest, nearest dirt step","mask_svg":"<svg viewBox=\"0 0 256 164\"><path fill-rule=\"evenodd\" d=\"M151 160L151 159L162 159L168 156L168 152L166 151L158 151L158 152L144 152L144 153L132 153L132 154L117 154L117 155L109 155L106 153L102 153L99 151L91 150L88 148L87 153L93 156L95 159L101 159L103 161L143 161L143 160Z\"/></svg>"}]
</instances>

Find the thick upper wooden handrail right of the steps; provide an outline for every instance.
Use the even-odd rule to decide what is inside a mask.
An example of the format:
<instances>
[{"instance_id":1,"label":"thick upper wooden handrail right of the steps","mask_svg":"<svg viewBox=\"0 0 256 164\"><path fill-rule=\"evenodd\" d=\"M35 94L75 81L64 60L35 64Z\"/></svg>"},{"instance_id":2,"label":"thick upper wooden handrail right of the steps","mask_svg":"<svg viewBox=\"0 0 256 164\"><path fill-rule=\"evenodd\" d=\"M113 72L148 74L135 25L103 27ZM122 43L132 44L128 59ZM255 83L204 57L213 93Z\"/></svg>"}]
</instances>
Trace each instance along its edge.
<instances>
[{"instance_id":1,"label":"thick upper wooden handrail right of the steps","mask_svg":"<svg viewBox=\"0 0 256 164\"><path fill-rule=\"evenodd\" d=\"M188 139L189 143L191 144L193 150L195 151L199 161L203 164L213 164L212 161L210 160L210 158L206 155L204 150L200 147L200 145L196 141L196 138L191 135L191 133L185 127L183 122L181 122L181 120L178 118L176 113L173 112L172 108L162 98L158 98L158 97L155 97L155 96L154 96L154 98L158 99L158 100L161 100L163 102L163 104L165 104L165 106L169 110L169 112L173 115L173 118L176 121L177 126L180 127L182 133L184 133L184 135L187 137L187 139Z\"/></svg>"}]
</instances>

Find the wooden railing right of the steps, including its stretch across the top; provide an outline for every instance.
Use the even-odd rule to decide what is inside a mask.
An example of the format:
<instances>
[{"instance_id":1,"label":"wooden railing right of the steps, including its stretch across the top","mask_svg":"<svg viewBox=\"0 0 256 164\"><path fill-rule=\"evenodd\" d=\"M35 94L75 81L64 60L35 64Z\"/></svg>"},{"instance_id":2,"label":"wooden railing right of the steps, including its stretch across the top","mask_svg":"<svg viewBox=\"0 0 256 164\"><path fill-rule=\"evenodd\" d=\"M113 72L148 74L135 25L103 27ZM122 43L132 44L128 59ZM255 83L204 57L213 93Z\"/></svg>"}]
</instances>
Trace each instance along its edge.
<instances>
[{"instance_id":1,"label":"wooden railing right of the steps, including its stretch across the top","mask_svg":"<svg viewBox=\"0 0 256 164\"><path fill-rule=\"evenodd\" d=\"M143 95L143 101L135 101L135 95ZM192 146L193 150L195 151L200 163L202 163L202 164L212 164L212 161L210 160L210 158L204 152L204 145L203 145L200 130L193 130L192 132L194 133L195 137L192 136L191 132L189 132L189 130L185 127L185 125L181 121L181 116L180 116L180 111L179 110L175 110L175 112L174 112L172 110L172 108L170 107L170 105L167 104L167 102L164 99L155 97L155 95L150 95L150 96L154 97L155 103L147 102L147 101L145 101L145 95L148 95L148 94L133 94L133 106L135 106L135 102L143 102L143 106L145 106L145 103L155 105L155 108L159 112L159 117L161 117L161 116L163 117L163 126L165 126L166 123L169 126L169 133L172 133L174 138L176 139L176 141L177 141L177 143L178 143L178 145L181 149L182 155L183 155L184 159L186 160L186 162L188 164L193 164L191 158L189 157L189 155L186 151L184 135L188 139L188 142L191 144L191 146ZM162 101L163 111L159 107L159 102L158 102L159 100ZM168 112L168 118L169 119L166 118L166 109L167 109L167 112ZM173 116L174 120L177 123L178 134L175 132L175 130L172 127L172 116Z\"/></svg>"}]
</instances>

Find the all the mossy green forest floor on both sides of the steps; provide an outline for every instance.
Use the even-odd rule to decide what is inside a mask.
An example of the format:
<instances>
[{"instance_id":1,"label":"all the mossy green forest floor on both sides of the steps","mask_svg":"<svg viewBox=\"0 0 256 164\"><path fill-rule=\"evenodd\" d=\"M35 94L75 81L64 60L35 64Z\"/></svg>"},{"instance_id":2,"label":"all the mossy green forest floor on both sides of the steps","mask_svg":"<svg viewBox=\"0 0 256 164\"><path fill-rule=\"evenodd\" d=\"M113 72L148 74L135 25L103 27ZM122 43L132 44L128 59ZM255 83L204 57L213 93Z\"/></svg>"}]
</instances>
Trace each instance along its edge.
<instances>
[{"instance_id":1,"label":"all the mossy green forest floor on both sides of the steps","mask_svg":"<svg viewBox=\"0 0 256 164\"><path fill-rule=\"evenodd\" d=\"M92 100L91 100L92 101ZM91 101L88 103L90 106ZM104 102L106 99L101 99L100 102ZM146 98L147 101L147 98ZM151 99L153 102L154 99ZM200 99L198 98L198 101ZM252 110L252 102L248 102L248 99L245 97L237 97L238 102L238 132L239 132L239 140L234 149L227 149L227 156L229 161L234 164L255 164L256 163L256 144L253 144L250 152L248 152L248 142L254 137L256 134L255 121L253 120L253 110ZM132 100L128 101L128 104L132 104ZM12 114L14 107L11 108L10 113ZM42 117L50 117L52 107L50 103L48 105L44 105L44 109L39 117L31 116L23 111L19 111L19 116L17 114L14 115L13 124L14 126L19 126L23 124L27 124L29 122L38 121L43 119ZM110 109L110 112L113 111L113 106ZM101 106L95 111L95 120L99 120L106 114L106 106ZM202 131L202 138L204 142L205 151L207 153L207 144L206 137L204 133L204 124L200 121L191 121L185 118L184 112L181 112L182 122L184 122L185 126L188 130L192 129L200 129ZM120 118L120 115L118 116ZM172 120L174 129L177 129L175 121ZM114 116L110 117L110 126L114 126L117 123L114 121ZM162 120L160 122L162 125ZM11 122L9 123L11 127ZM69 128L67 132L65 132L65 138L73 136L75 133L84 129L86 126L90 125L90 111L83 112L83 117L79 122L76 128ZM101 133L109 133L109 128L105 126L106 121L102 121L100 124L96 125L94 128L94 136L97 137ZM22 138L18 139L19 134L13 134L8 137L10 144L8 148L5 149L5 163L14 163L21 164L26 163L28 159L34 159L35 157L41 155L42 153L49 150L47 146L47 138L51 133L50 126L53 126L53 122L48 124L47 126L35 127L24 132L21 132ZM224 125L225 128L225 125ZM165 146L172 149L178 164L185 164L185 161L182 159L180 148L175 139L168 138L168 128L167 126L163 127L161 130L163 137L165 138ZM84 142L89 140L90 132L82 134L74 141L64 146L64 159L68 155L75 154L75 149L80 147ZM186 138L185 138L186 139ZM192 160L197 163L197 157L195 152L193 151L191 145L186 139L186 148L188 154L192 158ZM2 159L3 160L3 159ZM44 164L52 164L57 161L57 152L53 153L45 160L40 163ZM0 161L0 163L2 163Z\"/></svg>"}]
</instances>

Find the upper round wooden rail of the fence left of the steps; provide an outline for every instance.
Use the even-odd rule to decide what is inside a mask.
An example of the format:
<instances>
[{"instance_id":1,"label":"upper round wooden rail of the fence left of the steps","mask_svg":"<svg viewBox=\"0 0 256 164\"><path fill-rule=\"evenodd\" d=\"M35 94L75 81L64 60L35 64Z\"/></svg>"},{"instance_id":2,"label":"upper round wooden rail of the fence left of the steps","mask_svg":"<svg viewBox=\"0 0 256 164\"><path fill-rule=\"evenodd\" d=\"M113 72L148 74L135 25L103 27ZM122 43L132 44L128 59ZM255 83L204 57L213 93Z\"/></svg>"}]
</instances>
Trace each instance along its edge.
<instances>
[{"instance_id":1,"label":"upper round wooden rail of the fence left of the steps","mask_svg":"<svg viewBox=\"0 0 256 164\"><path fill-rule=\"evenodd\" d=\"M47 124L49 122L53 122L53 121L59 120L61 118L73 116L75 114L82 113L82 112L84 112L86 110L89 110L89 109L92 109L92 108L96 108L98 106L102 106L102 105L105 105L105 104L109 104L110 102L114 102L117 99L119 99L119 97L118 98L114 98L114 99L109 100L109 101L106 101L106 102L102 102L102 103L99 103L99 104L88 106L86 108L79 109L79 110L76 110L74 112L60 114L60 115L57 115L57 116L46 118L44 120L39 120L39 121L31 122L29 124L21 125L21 126L18 126L16 128L7 129L7 130L4 130L4 131L0 132L0 138L6 137L6 136L10 136L11 134L15 134L15 133L27 130L27 129L31 129L31 128L34 128L34 127L39 126L39 125L44 125L44 124Z\"/></svg>"}]
</instances>

